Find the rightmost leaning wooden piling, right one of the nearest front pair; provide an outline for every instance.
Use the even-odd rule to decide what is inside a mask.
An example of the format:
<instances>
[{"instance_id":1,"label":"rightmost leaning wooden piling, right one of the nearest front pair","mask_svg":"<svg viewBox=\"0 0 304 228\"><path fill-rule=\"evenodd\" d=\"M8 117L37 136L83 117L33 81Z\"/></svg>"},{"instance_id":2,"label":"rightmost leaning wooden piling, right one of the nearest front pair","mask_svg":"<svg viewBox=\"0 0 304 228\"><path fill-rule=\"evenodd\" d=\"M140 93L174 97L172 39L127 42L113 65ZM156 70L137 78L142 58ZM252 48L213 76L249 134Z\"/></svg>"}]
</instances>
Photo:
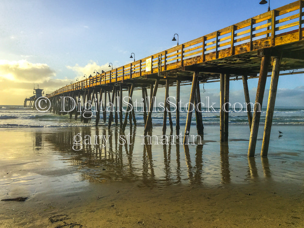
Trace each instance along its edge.
<instances>
[{"instance_id":1,"label":"rightmost leaning wooden piling, right one of the nearest front pair","mask_svg":"<svg viewBox=\"0 0 304 228\"><path fill-rule=\"evenodd\" d=\"M271 73L271 82L270 82L270 89L268 96L261 157L267 157L268 154L270 131L271 131L273 111L275 109L275 97L277 94L279 73L280 73L280 58L275 58L273 62L272 73Z\"/></svg>"}]
</instances>

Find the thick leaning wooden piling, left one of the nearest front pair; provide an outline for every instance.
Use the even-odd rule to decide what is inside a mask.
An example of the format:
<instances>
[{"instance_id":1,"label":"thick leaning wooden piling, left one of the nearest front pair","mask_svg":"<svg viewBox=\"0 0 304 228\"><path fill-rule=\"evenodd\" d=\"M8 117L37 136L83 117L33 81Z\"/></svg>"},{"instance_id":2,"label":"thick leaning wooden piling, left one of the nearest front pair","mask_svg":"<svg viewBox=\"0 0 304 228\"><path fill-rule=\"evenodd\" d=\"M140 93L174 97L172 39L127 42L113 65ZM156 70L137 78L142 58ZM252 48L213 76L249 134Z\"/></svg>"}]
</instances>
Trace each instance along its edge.
<instances>
[{"instance_id":1,"label":"thick leaning wooden piling, left one of the nearest front pair","mask_svg":"<svg viewBox=\"0 0 304 228\"><path fill-rule=\"evenodd\" d=\"M265 51L261 60L260 75L257 85L257 95L255 98L254 112L252 116L249 147L248 147L248 157L254 157L255 154L255 146L257 143L257 132L259 129L260 117L261 117L261 110L259 109L262 107L262 103L263 103L269 63L270 63L270 51Z\"/></svg>"}]
</instances>

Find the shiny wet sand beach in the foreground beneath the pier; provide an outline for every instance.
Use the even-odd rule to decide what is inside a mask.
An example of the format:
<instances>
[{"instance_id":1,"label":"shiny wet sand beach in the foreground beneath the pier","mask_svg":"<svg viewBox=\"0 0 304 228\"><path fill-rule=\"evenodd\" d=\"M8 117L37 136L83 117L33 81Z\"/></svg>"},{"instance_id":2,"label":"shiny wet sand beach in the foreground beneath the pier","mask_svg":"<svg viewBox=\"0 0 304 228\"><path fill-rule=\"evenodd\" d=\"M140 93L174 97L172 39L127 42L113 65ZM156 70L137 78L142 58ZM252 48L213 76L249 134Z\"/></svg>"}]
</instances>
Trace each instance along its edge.
<instances>
[{"instance_id":1,"label":"shiny wet sand beach in the foreground beneath the pier","mask_svg":"<svg viewBox=\"0 0 304 228\"><path fill-rule=\"evenodd\" d=\"M303 128L280 129L268 159L247 158L247 126L185 147L142 145L141 127L130 145L115 128L0 130L0 199L28 197L0 201L0 227L304 227ZM113 137L74 151L78 132Z\"/></svg>"}]
</instances>

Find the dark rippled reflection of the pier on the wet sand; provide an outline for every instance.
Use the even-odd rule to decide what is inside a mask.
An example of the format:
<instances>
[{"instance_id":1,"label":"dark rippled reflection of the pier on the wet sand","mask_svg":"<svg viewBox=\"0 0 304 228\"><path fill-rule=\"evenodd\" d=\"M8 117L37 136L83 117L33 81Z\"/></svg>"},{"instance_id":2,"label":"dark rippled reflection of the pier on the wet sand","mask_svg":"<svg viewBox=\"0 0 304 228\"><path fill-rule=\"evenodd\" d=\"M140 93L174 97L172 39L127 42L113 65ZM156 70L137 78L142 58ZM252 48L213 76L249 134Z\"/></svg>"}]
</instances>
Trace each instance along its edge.
<instances>
[{"instance_id":1,"label":"dark rippled reflection of the pier on the wet sand","mask_svg":"<svg viewBox=\"0 0 304 228\"><path fill-rule=\"evenodd\" d=\"M74 130L80 132L81 135L112 137L109 137L105 146L102 146L102 139L97 137L96 142L92 141L91 144L83 145L79 151L72 149L67 151L67 148L73 146L73 137L76 135ZM149 144L146 138L145 142L141 144L141 137L136 136L136 127L130 131L130 141L125 143L119 141L122 135L129 137L127 136L129 133L127 135L120 133L117 128L101 130L101 128L76 127L73 131L49 133L45 138L41 137L40 133L36 133L35 143L39 145L37 141L45 140L52 145L55 151L59 151L64 160L71 163L72 166L84 171L89 168L90 171L85 174L100 181L113 179L143 181L145 185L181 182L190 185L207 185L206 179L210 180L210 177L218 179L216 184L220 182L229 184L233 179L231 170L234 168L230 167L229 147L226 142L219 143L219 156L215 157L212 164L208 164L208 158L204 157L204 144L194 146L179 143L154 145ZM181 153L185 153L185 157ZM264 176L270 177L267 158L262 158L262 167ZM258 178L254 158L248 158L247 177Z\"/></svg>"}]
</instances>

